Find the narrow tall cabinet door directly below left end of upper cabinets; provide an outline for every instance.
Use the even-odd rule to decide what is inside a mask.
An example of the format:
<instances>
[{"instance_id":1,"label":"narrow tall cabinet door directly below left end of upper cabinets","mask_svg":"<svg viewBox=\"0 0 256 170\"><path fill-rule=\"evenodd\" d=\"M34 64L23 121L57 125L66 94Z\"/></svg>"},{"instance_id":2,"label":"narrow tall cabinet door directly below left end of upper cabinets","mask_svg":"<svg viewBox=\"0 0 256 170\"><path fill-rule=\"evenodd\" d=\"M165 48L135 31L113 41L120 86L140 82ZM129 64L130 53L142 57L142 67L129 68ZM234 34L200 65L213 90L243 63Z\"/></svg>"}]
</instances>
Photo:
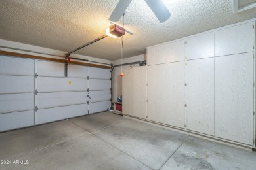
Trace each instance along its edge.
<instances>
[{"instance_id":1,"label":"narrow tall cabinet door directly below left end of upper cabinets","mask_svg":"<svg viewBox=\"0 0 256 170\"><path fill-rule=\"evenodd\" d=\"M148 120L163 123L165 113L165 69L164 65L148 66Z\"/></svg>"}]
</instances>

